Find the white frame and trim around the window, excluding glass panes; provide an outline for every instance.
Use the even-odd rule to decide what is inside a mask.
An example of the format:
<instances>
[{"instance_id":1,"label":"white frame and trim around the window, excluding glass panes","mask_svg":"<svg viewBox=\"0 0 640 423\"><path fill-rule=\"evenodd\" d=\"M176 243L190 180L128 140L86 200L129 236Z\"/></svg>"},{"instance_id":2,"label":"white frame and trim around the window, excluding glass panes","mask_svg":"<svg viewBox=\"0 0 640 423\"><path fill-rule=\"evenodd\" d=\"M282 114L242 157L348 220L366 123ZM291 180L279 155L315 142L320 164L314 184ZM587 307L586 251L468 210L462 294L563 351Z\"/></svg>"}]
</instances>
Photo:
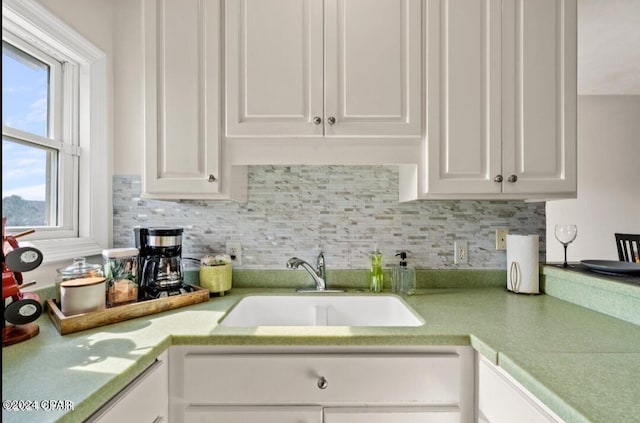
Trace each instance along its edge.
<instances>
[{"instance_id":1,"label":"white frame and trim around the window, excluding glass panes","mask_svg":"<svg viewBox=\"0 0 640 423\"><path fill-rule=\"evenodd\" d=\"M112 226L106 55L34 0L2 0L2 27L3 39L6 31L12 44L18 39L63 63L62 117L50 122L53 139L41 140L61 152L63 217L20 243L39 248L45 263L100 254Z\"/></svg>"}]
</instances>

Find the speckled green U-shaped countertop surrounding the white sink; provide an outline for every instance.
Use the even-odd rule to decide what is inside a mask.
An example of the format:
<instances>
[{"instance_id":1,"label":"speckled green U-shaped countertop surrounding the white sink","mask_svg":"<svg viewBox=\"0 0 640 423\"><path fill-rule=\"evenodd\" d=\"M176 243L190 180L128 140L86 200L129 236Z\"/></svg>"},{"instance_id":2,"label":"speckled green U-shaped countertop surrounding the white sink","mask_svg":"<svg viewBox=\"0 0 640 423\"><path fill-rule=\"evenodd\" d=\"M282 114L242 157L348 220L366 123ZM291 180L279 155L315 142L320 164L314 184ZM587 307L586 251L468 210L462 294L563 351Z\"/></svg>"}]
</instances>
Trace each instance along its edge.
<instances>
[{"instance_id":1,"label":"speckled green U-shaped countertop surrounding the white sink","mask_svg":"<svg viewBox=\"0 0 640 423\"><path fill-rule=\"evenodd\" d=\"M488 287L419 290L406 298L426 322L417 328L217 325L243 296L283 292L292 290L234 288L206 303L65 336L42 316L38 336L3 348L2 399L56 400L49 405L63 409L67 400L75 409L3 409L2 420L82 421L162 351L187 344L471 345L568 422L640 416L640 326L633 323L551 295Z\"/></svg>"}]
</instances>

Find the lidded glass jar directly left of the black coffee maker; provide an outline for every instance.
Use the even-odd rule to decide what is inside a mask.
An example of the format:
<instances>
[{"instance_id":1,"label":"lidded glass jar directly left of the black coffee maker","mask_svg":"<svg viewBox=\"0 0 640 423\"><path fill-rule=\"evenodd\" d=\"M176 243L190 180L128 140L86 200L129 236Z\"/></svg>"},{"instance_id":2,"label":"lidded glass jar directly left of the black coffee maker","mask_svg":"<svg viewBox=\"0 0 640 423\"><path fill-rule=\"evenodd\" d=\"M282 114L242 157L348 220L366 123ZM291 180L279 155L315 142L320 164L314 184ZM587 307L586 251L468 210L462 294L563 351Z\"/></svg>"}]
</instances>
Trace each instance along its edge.
<instances>
[{"instance_id":1,"label":"lidded glass jar directly left of the black coffee maker","mask_svg":"<svg viewBox=\"0 0 640 423\"><path fill-rule=\"evenodd\" d=\"M137 248L112 248L102 251L108 306L138 300L138 254Z\"/></svg>"}]
</instances>

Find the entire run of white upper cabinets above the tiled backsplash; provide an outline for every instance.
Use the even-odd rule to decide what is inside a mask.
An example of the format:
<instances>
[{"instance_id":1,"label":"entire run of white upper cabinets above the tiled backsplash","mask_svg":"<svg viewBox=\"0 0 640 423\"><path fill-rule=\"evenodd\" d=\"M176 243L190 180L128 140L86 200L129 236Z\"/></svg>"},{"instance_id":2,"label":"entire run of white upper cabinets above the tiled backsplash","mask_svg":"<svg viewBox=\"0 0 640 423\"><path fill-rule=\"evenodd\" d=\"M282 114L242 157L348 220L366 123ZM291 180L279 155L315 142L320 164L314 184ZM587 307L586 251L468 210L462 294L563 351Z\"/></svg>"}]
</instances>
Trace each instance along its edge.
<instances>
[{"instance_id":1,"label":"entire run of white upper cabinets above the tiled backsplash","mask_svg":"<svg viewBox=\"0 0 640 423\"><path fill-rule=\"evenodd\" d=\"M573 197L576 2L143 0L144 195L397 164L403 200Z\"/></svg>"}]
</instances>

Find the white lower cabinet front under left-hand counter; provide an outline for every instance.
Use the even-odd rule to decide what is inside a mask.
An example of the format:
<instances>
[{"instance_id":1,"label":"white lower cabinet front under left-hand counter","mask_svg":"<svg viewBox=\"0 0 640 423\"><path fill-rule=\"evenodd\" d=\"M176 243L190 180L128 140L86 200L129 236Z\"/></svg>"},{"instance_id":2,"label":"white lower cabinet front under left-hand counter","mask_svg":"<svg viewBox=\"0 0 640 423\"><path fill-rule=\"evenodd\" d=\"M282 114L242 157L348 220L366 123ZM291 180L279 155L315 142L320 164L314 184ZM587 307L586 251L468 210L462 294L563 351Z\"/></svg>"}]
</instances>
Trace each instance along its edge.
<instances>
[{"instance_id":1,"label":"white lower cabinet front under left-hand counter","mask_svg":"<svg viewBox=\"0 0 640 423\"><path fill-rule=\"evenodd\" d=\"M168 421L169 366L165 351L140 376L93 414L90 423Z\"/></svg>"}]
</instances>

